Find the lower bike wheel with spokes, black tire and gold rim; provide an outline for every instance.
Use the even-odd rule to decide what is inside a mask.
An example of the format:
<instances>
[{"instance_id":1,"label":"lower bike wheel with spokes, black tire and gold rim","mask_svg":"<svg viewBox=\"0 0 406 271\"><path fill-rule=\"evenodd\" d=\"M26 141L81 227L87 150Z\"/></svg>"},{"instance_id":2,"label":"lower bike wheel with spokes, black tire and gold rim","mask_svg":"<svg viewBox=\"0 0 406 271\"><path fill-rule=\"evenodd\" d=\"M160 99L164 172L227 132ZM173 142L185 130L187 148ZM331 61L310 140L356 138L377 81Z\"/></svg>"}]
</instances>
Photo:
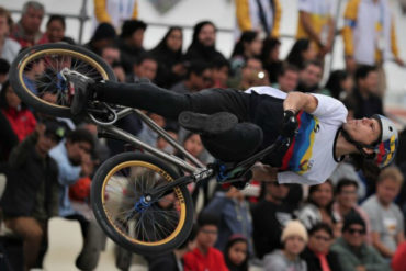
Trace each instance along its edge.
<instances>
[{"instance_id":1,"label":"lower bike wheel with spokes, black tire and gold rim","mask_svg":"<svg viewBox=\"0 0 406 271\"><path fill-rule=\"evenodd\" d=\"M124 153L106 160L91 189L94 215L117 245L140 255L167 252L180 246L193 225L193 203L185 187L148 206L140 204L146 190L172 182L177 172L160 159Z\"/></svg>"}]
</instances>

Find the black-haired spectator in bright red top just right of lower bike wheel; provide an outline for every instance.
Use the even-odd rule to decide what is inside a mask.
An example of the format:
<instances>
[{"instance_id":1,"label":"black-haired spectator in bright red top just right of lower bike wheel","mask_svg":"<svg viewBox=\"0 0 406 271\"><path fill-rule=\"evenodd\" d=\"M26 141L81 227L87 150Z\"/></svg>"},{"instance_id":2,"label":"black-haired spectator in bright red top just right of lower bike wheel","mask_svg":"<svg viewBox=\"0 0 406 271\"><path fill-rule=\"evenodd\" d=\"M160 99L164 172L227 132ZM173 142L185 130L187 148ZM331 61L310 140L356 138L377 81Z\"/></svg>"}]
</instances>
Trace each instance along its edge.
<instances>
[{"instance_id":1,"label":"black-haired spectator in bright red top just right of lower bike wheel","mask_svg":"<svg viewBox=\"0 0 406 271\"><path fill-rule=\"evenodd\" d=\"M199 215L196 248L184 255L184 271L228 271L222 251L213 247L217 239L217 225L215 216Z\"/></svg>"}]
</instances>

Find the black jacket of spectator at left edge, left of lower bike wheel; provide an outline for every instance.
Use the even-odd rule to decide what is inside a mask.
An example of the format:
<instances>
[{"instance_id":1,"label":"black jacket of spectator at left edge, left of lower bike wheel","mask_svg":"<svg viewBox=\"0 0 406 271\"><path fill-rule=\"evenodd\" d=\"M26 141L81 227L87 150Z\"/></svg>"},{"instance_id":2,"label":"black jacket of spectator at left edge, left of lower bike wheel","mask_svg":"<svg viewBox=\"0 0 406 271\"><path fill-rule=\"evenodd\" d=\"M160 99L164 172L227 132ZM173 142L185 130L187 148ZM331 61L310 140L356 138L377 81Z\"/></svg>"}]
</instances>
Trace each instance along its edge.
<instances>
[{"instance_id":1,"label":"black jacket of spectator at left edge, left of lower bike wheel","mask_svg":"<svg viewBox=\"0 0 406 271\"><path fill-rule=\"evenodd\" d=\"M1 200L4 215L47 219L58 213L58 168L53 158L40 157L34 133L10 155L7 187Z\"/></svg>"}]
</instances>

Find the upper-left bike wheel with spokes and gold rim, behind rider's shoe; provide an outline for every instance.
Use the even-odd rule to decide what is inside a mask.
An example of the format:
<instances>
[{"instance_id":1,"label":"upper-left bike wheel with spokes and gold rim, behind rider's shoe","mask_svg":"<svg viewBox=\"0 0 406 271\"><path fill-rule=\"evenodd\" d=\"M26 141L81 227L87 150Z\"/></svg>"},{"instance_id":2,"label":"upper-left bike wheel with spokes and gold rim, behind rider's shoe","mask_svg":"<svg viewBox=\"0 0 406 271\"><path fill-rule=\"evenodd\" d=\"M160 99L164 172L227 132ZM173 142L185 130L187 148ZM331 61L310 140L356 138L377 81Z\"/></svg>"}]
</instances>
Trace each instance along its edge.
<instances>
[{"instance_id":1,"label":"upper-left bike wheel with spokes and gold rim, behind rider's shoe","mask_svg":"<svg viewBox=\"0 0 406 271\"><path fill-rule=\"evenodd\" d=\"M61 70L78 71L100 80L113 80L112 68L94 53L69 44L43 44L20 53L10 68L10 83L20 99L34 110L71 117L69 93Z\"/></svg>"}]
</instances>

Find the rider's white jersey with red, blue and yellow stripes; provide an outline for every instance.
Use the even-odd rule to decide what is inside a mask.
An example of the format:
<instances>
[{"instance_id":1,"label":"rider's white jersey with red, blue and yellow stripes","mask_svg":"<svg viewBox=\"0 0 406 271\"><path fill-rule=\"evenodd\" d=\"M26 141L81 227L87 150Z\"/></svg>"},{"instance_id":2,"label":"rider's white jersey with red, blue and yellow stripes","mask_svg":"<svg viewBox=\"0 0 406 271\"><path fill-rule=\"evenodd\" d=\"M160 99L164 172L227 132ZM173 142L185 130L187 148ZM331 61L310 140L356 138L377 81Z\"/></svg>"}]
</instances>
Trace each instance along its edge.
<instances>
[{"instance_id":1,"label":"rider's white jersey with red, blue and yellow stripes","mask_svg":"<svg viewBox=\"0 0 406 271\"><path fill-rule=\"evenodd\" d=\"M271 87L253 87L246 93L271 95L285 99L286 93ZM328 179L338 166L334 157L337 131L346 123L348 111L338 100L313 94L318 103L309 114L297 114L298 132L283 157L282 172L278 173L280 183L319 184Z\"/></svg>"}]
</instances>

